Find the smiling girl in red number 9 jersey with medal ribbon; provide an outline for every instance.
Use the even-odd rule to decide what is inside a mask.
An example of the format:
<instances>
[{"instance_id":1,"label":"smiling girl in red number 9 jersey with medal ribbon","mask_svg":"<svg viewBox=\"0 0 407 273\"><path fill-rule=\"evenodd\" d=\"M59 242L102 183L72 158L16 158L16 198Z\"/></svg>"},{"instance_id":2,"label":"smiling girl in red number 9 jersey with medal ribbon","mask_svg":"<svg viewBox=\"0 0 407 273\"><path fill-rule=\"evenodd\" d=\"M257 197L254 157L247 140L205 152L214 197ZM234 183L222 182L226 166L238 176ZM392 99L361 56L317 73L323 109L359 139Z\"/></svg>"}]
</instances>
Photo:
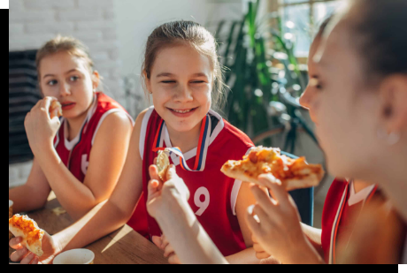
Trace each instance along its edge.
<instances>
[{"instance_id":1,"label":"smiling girl in red number 9 jersey with medal ribbon","mask_svg":"<svg viewBox=\"0 0 407 273\"><path fill-rule=\"evenodd\" d=\"M211 110L223 87L213 36L191 21L157 27L146 45L142 76L154 106L135 121L127 162L111 198L65 231L46 236L42 261L50 262L62 249L86 246L126 223L147 231L150 238L160 236L141 196L147 196L149 167L157 151L179 148L182 162L174 153L170 161L188 186L188 206L199 223L229 262L258 262L244 220L254 197L248 185L220 172L223 163L242 158L253 143ZM140 230L147 219L148 230ZM12 260L21 260L25 248L16 239L10 244L19 249Z\"/></svg>"}]
</instances>

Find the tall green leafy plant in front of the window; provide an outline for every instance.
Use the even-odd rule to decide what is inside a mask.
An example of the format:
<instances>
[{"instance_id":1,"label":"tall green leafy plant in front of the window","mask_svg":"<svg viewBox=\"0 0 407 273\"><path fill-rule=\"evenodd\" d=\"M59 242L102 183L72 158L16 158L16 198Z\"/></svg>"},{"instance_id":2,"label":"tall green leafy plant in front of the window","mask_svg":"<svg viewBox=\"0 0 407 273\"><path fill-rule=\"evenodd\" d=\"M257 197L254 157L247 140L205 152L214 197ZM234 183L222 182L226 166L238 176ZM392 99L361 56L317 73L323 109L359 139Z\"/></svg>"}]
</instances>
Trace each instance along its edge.
<instances>
[{"instance_id":1,"label":"tall green leafy plant in front of the window","mask_svg":"<svg viewBox=\"0 0 407 273\"><path fill-rule=\"evenodd\" d=\"M259 19L259 2L250 1L241 20L220 21L216 31L226 67L225 81L230 87L223 112L229 122L251 138L276 126L290 127L284 149L294 152L298 126L317 141L301 117L296 100L306 80L294 56L293 42L283 37L278 14ZM278 29L265 27L270 19L277 21ZM284 105L280 111L273 112L273 107L281 103ZM264 144L271 145L270 141Z\"/></svg>"}]
</instances>

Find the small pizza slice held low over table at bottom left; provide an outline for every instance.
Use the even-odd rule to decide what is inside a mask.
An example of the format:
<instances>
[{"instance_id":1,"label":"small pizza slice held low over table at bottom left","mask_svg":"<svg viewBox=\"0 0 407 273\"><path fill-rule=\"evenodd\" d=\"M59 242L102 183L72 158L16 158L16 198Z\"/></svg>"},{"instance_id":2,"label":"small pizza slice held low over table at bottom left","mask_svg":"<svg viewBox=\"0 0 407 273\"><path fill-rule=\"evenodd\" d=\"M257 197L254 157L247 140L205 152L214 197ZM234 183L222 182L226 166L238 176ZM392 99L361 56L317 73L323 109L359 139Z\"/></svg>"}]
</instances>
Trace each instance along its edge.
<instances>
[{"instance_id":1,"label":"small pizza slice held low over table at bottom left","mask_svg":"<svg viewBox=\"0 0 407 273\"><path fill-rule=\"evenodd\" d=\"M38 227L33 219L16 214L9 219L9 231L15 237L23 239L21 245L26 246L29 251L38 257L42 256L42 237L44 231Z\"/></svg>"}]
</instances>

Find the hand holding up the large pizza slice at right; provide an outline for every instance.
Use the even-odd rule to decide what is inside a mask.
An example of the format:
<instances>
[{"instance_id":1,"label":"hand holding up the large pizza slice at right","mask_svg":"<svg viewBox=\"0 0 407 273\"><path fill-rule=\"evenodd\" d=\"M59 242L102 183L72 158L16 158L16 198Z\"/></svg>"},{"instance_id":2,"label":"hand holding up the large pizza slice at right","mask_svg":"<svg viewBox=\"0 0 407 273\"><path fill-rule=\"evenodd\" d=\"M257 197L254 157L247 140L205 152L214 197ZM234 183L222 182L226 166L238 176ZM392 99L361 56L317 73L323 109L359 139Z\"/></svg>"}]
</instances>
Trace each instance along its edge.
<instances>
[{"instance_id":1,"label":"hand holding up the large pizza slice at right","mask_svg":"<svg viewBox=\"0 0 407 273\"><path fill-rule=\"evenodd\" d=\"M247 221L253 237L257 238L260 253L271 254L282 263L313 262L305 259L310 252L303 235L296 203L280 180L271 174L261 175L259 183L269 189L271 199L259 186L252 186L257 205L248 209ZM259 223L254 216L257 215Z\"/></svg>"}]
</instances>

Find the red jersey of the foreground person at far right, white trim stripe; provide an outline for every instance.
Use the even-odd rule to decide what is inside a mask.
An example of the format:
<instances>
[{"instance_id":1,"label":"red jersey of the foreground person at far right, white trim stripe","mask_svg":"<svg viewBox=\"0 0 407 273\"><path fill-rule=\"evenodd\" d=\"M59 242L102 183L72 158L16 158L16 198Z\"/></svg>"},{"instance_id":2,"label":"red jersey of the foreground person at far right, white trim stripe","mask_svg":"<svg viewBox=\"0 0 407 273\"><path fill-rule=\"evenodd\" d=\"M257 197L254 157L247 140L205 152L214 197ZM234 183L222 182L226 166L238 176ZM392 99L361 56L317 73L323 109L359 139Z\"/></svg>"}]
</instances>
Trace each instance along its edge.
<instances>
[{"instance_id":1,"label":"red jersey of the foreground person at far right, white trim stripe","mask_svg":"<svg viewBox=\"0 0 407 273\"><path fill-rule=\"evenodd\" d=\"M366 187L356 194L353 182L335 179L326 194L322 212L321 242L326 263L335 262L335 244L338 239L349 239L349 231L354 228L354 216L363 209L365 201L376 191L376 186ZM358 195L358 196L357 196Z\"/></svg>"}]
</instances>

